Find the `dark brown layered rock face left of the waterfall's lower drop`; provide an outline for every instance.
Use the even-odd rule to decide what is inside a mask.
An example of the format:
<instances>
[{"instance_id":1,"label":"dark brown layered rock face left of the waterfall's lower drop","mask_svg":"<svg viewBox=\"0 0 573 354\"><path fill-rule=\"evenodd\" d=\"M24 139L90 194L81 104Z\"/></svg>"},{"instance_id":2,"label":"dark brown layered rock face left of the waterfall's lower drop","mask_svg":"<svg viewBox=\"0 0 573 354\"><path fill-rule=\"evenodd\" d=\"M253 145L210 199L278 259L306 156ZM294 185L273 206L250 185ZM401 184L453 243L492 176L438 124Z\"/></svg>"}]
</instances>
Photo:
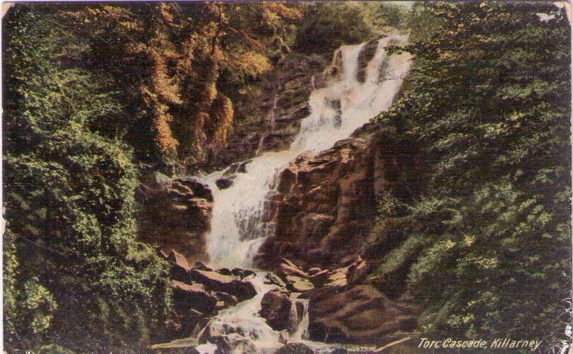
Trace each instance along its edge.
<instances>
[{"instance_id":1,"label":"dark brown layered rock face left of the waterfall's lower drop","mask_svg":"<svg viewBox=\"0 0 573 354\"><path fill-rule=\"evenodd\" d=\"M175 250L191 264L207 260L213 195L206 184L151 172L143 177L136 199L140 239L166 253Z\"/></svg>"}]
</instances>

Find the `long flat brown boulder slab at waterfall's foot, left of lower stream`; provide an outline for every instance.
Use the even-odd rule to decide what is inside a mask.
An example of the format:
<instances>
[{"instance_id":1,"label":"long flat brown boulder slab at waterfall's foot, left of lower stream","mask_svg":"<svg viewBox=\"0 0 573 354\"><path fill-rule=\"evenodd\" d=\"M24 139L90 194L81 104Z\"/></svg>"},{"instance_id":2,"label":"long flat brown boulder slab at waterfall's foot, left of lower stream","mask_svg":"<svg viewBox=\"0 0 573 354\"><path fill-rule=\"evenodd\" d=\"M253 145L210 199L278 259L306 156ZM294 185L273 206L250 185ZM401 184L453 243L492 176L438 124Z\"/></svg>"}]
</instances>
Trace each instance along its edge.
<instances>
[{"instance_id":1,"label":"long flat brown boulder slab at waterfall's foot, left of lower stream","mask_svg":"<svg viewBox=\"0 0 573 354\"><path fill-rule=\"evenodd\" d=\"M193 282L203 284L207 289L221 291L236 296L239 301L252 298L257 295L255 286L246 280L239 280L236 277L223 275L213 271L202 271L200 269L191 269L189 275Z\"/></svg>"}]
</instances>

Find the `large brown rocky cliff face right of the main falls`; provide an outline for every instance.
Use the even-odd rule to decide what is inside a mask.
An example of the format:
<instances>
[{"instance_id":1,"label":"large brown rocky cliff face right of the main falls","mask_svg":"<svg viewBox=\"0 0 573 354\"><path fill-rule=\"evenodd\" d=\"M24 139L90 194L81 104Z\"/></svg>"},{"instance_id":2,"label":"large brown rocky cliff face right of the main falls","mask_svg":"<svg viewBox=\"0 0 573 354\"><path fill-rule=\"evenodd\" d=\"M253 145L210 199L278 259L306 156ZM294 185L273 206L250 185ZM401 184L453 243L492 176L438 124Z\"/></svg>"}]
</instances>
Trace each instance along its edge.
<instances>
[{"instance_id":1,"label":"large brown rocky cliff face right of the main falls","mask_svg":"<svg viewBox=\"0 0 573 354\"><path fill-rule=\"evenodd\" d=\"M255 258L299 266L341 266L363 255L374 236L378 200L417 194L416 147L393 127L368 127L319 154L303 154L280 175L268 213L276 220Z\"/></svg>"}]
</instances>

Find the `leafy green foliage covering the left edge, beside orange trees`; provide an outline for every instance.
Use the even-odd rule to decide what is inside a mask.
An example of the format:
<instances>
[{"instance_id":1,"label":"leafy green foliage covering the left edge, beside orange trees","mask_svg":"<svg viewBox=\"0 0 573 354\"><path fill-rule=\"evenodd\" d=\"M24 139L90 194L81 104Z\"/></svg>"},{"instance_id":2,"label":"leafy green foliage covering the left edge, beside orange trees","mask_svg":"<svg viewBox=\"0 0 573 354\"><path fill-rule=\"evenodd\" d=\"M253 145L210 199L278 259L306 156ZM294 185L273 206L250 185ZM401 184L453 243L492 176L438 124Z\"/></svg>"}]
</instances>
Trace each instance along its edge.
<instances>
[{"instance_id":1,"label":"leafy green foliage covering the left edge, beside orange trees","mask_svg":"<svg viewBox=\"0 0 573 354\"><path fill-rule=\"evenodd\" d=\"M145 341L169 308L166 264L134 239L131 150L93 129L120 104L90 72L65 65L81 40L53 20L18 5L3 22L6 344ZM115 310L104 314L102 303ZM134 319L139 330L127 326Z\"/></svg>"}]
</instances>

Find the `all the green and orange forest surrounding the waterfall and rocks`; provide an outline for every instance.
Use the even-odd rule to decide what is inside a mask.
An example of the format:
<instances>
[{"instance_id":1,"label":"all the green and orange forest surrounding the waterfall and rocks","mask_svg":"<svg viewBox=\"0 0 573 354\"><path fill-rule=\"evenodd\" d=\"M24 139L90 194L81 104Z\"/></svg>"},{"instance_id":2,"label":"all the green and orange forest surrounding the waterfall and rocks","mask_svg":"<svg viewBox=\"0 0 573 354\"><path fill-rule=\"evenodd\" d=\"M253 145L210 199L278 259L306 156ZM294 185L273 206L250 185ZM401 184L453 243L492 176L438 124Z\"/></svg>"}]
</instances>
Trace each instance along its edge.
<instances>
[{"instance_id":1,"label":"all the green and orange forest surrounding the waterfall and rocks","mask_svg":"<svg viewBox=\"0 0 573 354\"><path fill-rule=\"evenodd\" d=\"M143 176L238 161L229 141L266 129L251 108L297 70L285 63L387 31L410 33L388 50L412 70L369 129L412 141L424 182L376 196L364 282L423 307L417 333L551 351L571 285L570 23L553 3L501 1L17 3L3 18L6 350L163 341L170 264L138 236Z\"/></svg>"}]
</instances>

